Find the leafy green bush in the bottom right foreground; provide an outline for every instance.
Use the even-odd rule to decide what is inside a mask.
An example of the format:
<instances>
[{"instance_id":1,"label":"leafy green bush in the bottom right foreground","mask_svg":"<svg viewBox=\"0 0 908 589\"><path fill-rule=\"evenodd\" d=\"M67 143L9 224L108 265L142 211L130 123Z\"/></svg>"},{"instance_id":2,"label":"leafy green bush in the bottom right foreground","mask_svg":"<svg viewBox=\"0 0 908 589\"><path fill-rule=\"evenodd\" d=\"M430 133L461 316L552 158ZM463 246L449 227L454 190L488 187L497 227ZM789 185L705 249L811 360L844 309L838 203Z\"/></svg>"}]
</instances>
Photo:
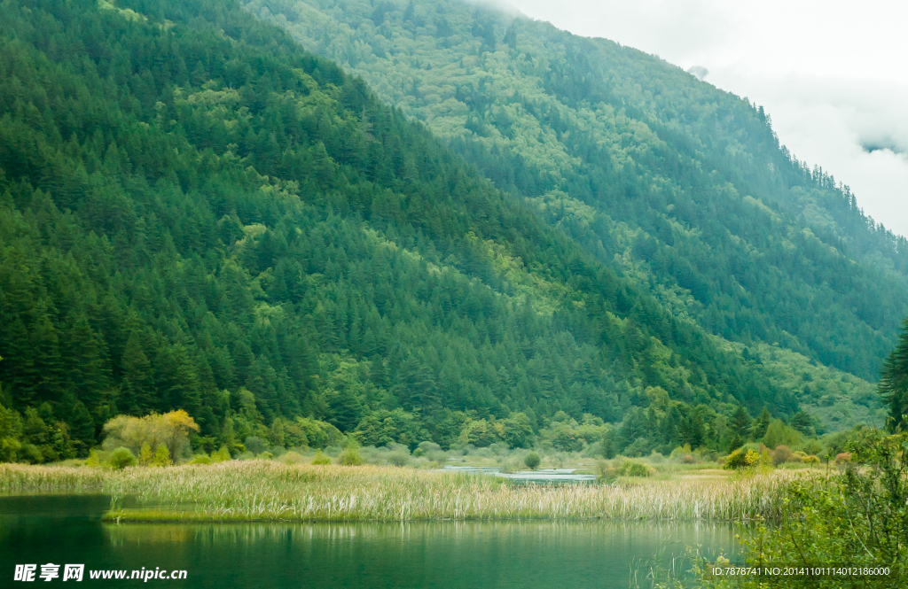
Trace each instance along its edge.
<instances>
[{"instance_id":1,"label":"leafy green bush in the bottom right foreground","mask_svg":"<svg viewBox=\"0 0 908 589\"><path fill-rule=\"evenodd\" d=\"M908 436L866 429L831 476L795 479L778 521L745 536L747 564L888 567L885 577L769 576L715 587L903 587L908 584Z\"/></svg>"}]
</instances>

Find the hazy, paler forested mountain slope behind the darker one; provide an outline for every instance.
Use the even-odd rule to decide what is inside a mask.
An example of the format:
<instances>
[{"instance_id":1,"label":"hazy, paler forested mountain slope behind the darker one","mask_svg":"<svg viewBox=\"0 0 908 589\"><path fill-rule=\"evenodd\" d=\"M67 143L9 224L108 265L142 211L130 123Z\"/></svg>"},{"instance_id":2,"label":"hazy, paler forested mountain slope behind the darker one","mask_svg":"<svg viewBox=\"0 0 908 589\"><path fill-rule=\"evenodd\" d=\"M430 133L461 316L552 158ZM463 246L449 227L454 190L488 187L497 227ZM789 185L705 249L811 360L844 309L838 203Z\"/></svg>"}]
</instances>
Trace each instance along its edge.
<instances>
[{"instance_id":1,"label":"hazy, paler forested mountain slope behind the darker one","mask_svg":"<svg viewBox=\"0 0 908 589\"><path fill-rule=\"evenodd\" d=\"M652 55L459 0L252 0L503 191L712 334L875 380L908 243L762 107Z\"/></svg>"}]
</instances>

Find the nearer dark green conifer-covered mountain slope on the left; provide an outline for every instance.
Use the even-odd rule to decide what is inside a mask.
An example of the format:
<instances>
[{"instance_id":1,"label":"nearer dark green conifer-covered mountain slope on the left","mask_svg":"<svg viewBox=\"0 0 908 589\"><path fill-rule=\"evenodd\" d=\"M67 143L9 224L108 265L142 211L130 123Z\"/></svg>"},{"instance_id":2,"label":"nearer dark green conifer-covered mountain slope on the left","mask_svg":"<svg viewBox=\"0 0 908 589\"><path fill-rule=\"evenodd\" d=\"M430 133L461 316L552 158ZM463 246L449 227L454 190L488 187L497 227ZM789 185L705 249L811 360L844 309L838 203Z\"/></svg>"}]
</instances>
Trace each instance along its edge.
<instances>
[{"instance_id":1,"label":"nearer dark green conifer-covered mountain slope on the left","mask_svg":"<svg viewBox=\"0 0 908 589\"><path fill-rule=\"evenodd\" d=\"M641 452L797 410L360 80L202 0L0 4L0 357L0 438L44 459L174 408L210 448L299 416L526 444L650 407Z\"/></svg>"}]
</instances>

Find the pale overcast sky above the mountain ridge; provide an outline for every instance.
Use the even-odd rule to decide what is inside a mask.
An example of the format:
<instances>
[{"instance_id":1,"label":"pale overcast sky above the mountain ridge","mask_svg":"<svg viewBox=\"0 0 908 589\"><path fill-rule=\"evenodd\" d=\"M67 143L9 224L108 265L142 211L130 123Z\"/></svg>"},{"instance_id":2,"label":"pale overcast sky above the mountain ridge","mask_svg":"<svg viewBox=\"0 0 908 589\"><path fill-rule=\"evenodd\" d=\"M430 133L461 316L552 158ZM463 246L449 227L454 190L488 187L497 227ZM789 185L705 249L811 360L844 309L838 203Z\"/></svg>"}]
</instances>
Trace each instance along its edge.
<instances>
[{"instance_id":1,"label":"pale overcast sky above the mountain ridge","mask_svg":"<svg viewBox=\"0 0 908 589\"><path fill-rule=\"evenodd\" d=\"M908 3L505 0L574 34L657 54L762 104L781 142L908 236Z\"/></svg>"}]
</instances>

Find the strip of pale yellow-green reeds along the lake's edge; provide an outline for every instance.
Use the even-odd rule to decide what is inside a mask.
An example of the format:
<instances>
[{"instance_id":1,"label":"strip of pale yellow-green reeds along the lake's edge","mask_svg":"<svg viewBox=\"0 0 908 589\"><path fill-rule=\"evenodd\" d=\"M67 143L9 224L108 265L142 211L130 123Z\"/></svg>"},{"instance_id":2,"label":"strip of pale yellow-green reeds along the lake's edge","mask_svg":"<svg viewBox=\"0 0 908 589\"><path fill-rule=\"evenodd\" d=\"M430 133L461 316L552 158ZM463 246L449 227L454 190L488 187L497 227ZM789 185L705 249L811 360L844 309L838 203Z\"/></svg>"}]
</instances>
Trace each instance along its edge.
<instances>
[{"instance_id":1,"label":"strip of pale yellow-green reeds along the lake's edge","mask_svg":"<svg viewBox=\"0 0 908 589\"><path fill-rule=\"evenodd\" d=\"M720 480L627 485L510 486L491 476L395 466L282 465L252 460L210 466L0 465L7 493L101 491L119 521L416 521L583 519L734 521L774 519L785 471Z\"/></svg>"}]
</instances>

